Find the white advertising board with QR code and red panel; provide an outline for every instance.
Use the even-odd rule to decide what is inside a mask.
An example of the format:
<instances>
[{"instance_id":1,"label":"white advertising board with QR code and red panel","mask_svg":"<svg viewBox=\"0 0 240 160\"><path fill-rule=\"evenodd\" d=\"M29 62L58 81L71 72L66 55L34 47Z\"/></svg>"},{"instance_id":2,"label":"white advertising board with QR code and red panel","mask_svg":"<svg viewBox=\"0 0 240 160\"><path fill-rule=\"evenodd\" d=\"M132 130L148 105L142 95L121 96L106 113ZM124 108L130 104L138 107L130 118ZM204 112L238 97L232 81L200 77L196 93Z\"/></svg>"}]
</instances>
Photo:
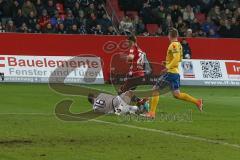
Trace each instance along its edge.
<instances>
[{"instance_id":1,"label":"white advertising board with QR code and red panel","mask_svg":"<svg viewBox=\"0 0 240 160\"><path fill-rule=\"evenodd\" d=\"M240 86L240 61L183 60L179 70L182 85Z\"/></svg>"}]
</instances>

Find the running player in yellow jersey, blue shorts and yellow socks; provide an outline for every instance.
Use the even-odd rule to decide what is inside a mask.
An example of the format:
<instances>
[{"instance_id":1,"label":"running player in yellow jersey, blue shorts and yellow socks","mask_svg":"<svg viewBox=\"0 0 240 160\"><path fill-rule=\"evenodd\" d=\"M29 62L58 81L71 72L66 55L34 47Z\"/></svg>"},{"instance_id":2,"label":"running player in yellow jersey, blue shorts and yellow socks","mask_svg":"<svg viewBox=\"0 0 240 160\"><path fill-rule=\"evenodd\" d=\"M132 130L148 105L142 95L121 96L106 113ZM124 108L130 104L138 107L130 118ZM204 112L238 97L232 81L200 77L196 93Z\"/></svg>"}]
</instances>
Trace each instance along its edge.
<instances>
[{"instance_id":1,"label":"running player in yellow jersey, blue shorts and yellow socks","mask_svg":"<svg viewBox=\"0 0 240 160\"><path fill-rule=\"evenodd\" d=\"M155 118L156 108L159 101L159 92L161 89L161 84L166 81L170 84L172 94L176 99L184 100L195 104L200 111L203 110L202 99L197 99L190 96L187 93L180 92L180 75L179 75L179 64L182 61L183 51L182 45L178 41L178 31L172 28L169 31L168 38L170 40L170 45L167 50L166 61L163 62L165 69L162 71L162 75L153 87L152 99L150 103L150 112L147 113L147 117Z\"/></svg>"}]
</instances>

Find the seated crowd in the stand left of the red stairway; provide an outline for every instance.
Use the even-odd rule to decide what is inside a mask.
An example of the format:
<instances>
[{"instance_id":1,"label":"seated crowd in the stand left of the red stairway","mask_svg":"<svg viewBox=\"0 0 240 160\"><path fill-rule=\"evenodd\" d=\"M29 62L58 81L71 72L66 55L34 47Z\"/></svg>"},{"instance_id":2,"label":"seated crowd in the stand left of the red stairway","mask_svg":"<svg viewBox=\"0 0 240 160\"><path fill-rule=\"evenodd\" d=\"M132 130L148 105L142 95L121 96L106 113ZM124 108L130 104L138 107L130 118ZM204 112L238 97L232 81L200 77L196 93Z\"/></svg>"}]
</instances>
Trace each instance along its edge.
<instances>
[{"instance_id":1,"label":"seated crowd in the stand left of the red stairway","mask_svg":"<svg viewBox=\"0 0 240 160\"><path fill-rule=\"evenodd\" d=\"M117 34L104 0L0 0L0 31Z\"/></svg>"}]
</instances>

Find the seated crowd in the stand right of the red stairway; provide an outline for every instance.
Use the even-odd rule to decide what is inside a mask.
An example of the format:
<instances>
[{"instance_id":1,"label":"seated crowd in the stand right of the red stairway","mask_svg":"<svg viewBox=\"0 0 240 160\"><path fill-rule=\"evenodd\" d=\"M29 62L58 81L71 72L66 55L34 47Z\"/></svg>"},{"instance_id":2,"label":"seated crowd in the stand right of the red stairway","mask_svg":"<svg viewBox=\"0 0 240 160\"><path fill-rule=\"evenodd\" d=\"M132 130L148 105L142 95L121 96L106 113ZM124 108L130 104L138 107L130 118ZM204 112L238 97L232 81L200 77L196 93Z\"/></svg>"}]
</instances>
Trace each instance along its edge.
<instances>
[{"instance_id":1,"label":"seated crowd in the stand right of the red stairway","mask_svg":"<svg viewBox=\"0 0 240 160\"><path fill-rule=\"evenodd\" d=\"M137 11L127 14L120 24L122 32L135 30L149 35L146 24L157 24L153 35L167 35L175 27L182 37L240 37L239 0L120 0L121 8Z\"/></svg>"}]
</instances>

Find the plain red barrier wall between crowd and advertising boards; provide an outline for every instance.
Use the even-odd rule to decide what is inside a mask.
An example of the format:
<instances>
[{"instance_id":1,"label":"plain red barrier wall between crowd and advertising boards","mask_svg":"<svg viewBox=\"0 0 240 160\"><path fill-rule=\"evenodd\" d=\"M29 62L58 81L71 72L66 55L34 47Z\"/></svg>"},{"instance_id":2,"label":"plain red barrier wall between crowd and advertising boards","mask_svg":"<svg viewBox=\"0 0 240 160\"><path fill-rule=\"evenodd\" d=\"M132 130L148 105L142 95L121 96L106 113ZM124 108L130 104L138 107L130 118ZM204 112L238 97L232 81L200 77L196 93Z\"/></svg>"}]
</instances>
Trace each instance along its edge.
<instances>
[{"instance_id":1,"label":"plain red barrier wall between crowd and advertising boards","mask_svg":"<svg viewBox=\"0 0 240 160\"><path fill-rule=\"evenodd\" d=\"M122 43L125 38L124 36L1 33L0 54L49 56L94 54L103 59L104 74L108 80L112 55L116 52L126 52L126 45ZM107 42L119 44L120 47L110 53L104 47ZM191 38L188 42L194 59L240 60L240 39ZM139 37L138 44L148 54L150 61L161 62L165 59L169 42L166 37ZM154 71L157 70L154 68Z\"/></svg>"}]
</instances>

